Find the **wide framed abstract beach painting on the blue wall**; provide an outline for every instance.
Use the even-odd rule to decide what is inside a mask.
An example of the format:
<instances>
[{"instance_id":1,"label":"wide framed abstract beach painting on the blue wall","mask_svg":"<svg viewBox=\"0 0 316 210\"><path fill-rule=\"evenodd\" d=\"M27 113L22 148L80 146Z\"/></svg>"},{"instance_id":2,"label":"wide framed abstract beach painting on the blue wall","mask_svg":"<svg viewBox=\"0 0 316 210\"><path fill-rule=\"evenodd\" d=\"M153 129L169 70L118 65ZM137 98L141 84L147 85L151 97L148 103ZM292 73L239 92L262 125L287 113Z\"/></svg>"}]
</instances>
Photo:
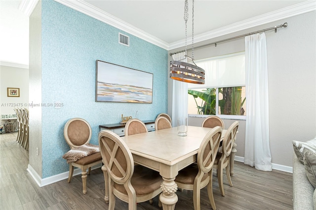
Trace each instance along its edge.
<instances>
[{"instance_id":1,"label":"wide framed abstract beach painting on the blue wall","mask_svg":"<svg viewBox=\"0 0 316 210\"><path fill-rule=\"evenodd\" d=\"M153 103L153 74L97 60L95 101Z\"/></svg>"}]
</instances>

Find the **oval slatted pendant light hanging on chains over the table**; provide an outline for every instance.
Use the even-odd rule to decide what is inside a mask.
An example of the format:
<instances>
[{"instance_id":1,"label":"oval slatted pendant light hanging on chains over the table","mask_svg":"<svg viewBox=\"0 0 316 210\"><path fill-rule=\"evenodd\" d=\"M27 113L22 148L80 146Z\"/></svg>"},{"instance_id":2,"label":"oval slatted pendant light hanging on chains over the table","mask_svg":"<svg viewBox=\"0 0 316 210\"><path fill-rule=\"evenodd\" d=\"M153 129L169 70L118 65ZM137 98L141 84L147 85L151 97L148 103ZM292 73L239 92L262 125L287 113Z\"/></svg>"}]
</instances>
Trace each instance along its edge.
<instances>
[{"instance_id":1,"label":"oval slatted pendant light hanging on chains over the table","mask_svg":"<svg viewBox=\"0 0 316 210\"><path fill-rule=\"evenodd\" d=\"M194 0L192 1L192 57L187 55L187 21L189 17L188 0L184 2L184 21L186 25L185 57L192 60L193 64L182 61L170 61L170 78L185 83L204 84L205 71L194 62Z\"/></svg>"}]
</instances>

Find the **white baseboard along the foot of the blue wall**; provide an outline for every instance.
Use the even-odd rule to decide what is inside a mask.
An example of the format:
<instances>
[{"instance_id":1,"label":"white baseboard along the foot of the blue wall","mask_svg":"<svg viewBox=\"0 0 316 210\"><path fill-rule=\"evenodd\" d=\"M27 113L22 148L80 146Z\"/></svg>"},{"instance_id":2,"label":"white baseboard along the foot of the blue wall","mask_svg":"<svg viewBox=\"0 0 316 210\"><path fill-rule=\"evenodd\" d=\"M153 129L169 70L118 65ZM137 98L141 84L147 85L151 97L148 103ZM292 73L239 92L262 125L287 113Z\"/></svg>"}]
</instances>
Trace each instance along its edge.
<instances>
[{"instance_id":1,"label":"white baseboard along the foot of the blue wall","mask_svg":"<svg viewBox=\"0 0 316 210\"><path fill-rule=\"evenodd\" d=\"M96 168L101 168L102 164L98 164L96 166L91 167L91 170L94 170ZM52 184L64 179L68 179L69 176L69 171L57 174L57 175L53 175L47 178L40 178L40 175L34 170L34 168L29 164L27 170L29 171L29 173L31 174L31 176L33 177L33 179L36 181L36 183L42 187L48 184ZM81 174L81 169L80 168L76 168L74 169L74 174L73 176L76 176L78 174Z\"/></svg>"}]
</instances>

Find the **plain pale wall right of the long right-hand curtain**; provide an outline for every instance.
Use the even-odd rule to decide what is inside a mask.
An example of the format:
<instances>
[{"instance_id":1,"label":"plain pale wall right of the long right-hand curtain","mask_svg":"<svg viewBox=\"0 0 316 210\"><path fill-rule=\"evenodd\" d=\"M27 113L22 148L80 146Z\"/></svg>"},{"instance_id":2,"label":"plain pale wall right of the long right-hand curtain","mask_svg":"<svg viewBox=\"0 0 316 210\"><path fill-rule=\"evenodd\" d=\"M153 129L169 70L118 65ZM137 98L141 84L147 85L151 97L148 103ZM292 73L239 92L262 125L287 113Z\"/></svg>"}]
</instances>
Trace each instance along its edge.
<instances>
[{"instance_id":1,"label":"plain pale wall right of the long right-hand curtain","mask_svg":"<svg viewBox=\"0 0 316 210\"><path fill-rule=\"evenodd\" d=\"M269 118L272 162L292 166L292 140L316 135L316 11L285 20L269 34Z\"/></svg>"}]
</instances>

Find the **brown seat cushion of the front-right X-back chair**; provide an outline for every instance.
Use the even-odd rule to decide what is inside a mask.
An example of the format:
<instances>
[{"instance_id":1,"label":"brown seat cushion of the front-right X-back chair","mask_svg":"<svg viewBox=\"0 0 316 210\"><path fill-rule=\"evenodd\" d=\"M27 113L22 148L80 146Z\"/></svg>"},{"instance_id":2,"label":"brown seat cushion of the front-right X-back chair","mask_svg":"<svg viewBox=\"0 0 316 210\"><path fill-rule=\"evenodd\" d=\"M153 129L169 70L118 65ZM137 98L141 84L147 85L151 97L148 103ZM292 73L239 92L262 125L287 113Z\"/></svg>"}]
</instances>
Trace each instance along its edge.
<instances>
[{"instance_id":1,"label":"brown seat cushion of the front-right X-back chair","mask_svg":"<svg viewBox=\"0 0 316 210\"><path fill-rule=\"evenodd\" d=\"M180 170L174 181L183 183L183 184L193 185L194 179L196 178L197 173L198 173L197 164L191 164L190 166ZM201 181L204 181L205 179L207 179L207 177L208 177L208 173L204 173Z\"/></svg>"}]
</instances>

